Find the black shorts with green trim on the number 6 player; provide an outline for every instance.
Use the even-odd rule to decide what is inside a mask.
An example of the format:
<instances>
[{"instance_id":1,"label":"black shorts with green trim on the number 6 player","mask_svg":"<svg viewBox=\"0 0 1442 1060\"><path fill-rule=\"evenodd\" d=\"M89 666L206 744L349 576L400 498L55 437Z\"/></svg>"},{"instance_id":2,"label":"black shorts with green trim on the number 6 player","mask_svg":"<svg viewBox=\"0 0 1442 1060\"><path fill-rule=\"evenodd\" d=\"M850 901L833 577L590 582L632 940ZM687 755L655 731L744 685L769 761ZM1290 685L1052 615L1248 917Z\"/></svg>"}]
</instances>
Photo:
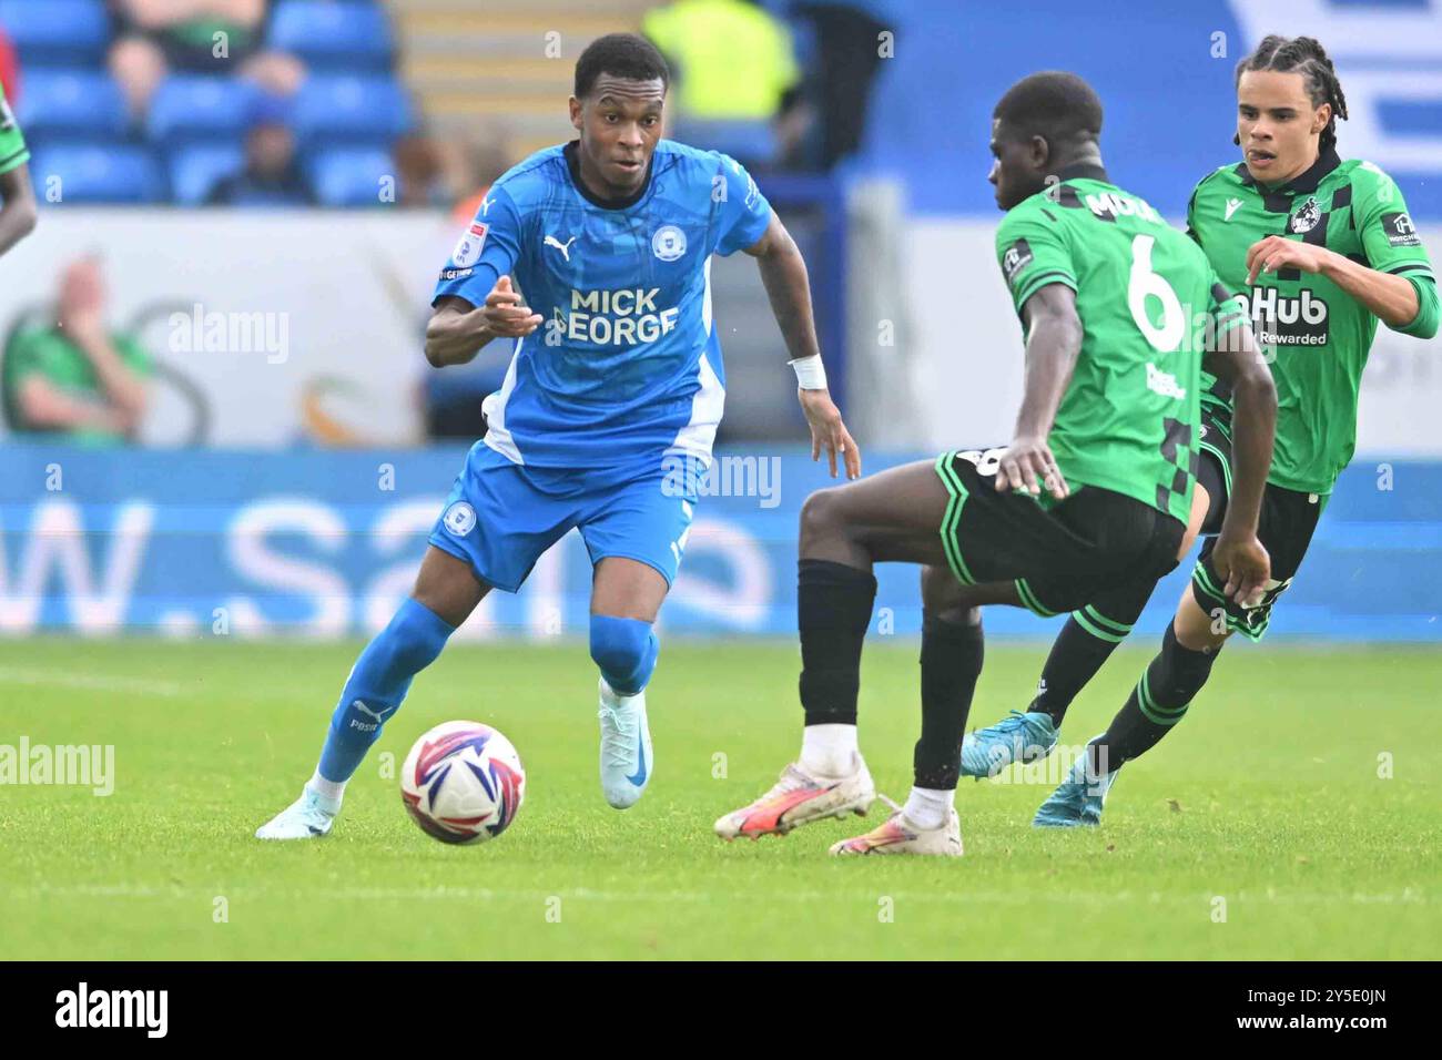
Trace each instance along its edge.
<instances>
[{"instance_id":1,"label":"black shorts with green trim on the number 6 player","mask_svg":"<svg viewBox=\"0 0 1442 1060\"><path fill-rule=\"evenodd\" d=\"M1151 505L1096 486L1043 506L1038 498L996 492L1001 449L943 453L936 473L952 495L942 545L963 586L1011 581L1041 616L1082 607L1103 588L1177 565L1185 526Z\"/></svg>"}]
</instances>

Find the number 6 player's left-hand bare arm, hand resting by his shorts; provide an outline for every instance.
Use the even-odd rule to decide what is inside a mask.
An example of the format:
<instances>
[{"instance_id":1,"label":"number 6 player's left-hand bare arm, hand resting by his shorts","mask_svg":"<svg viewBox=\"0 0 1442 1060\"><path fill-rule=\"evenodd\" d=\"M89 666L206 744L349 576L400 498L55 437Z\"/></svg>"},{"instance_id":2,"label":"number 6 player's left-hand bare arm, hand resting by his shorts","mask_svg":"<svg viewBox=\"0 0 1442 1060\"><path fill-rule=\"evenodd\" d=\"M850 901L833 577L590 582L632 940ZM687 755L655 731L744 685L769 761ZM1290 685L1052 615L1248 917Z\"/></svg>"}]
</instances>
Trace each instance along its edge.
<instances>
[{"instance_id":1,"label":"number 6 player's left-hand bare arm, hand resting by his shorts","mask_svg":"<svg viewBox=\"0 0 1442 1060\"><path fill-rule=\"evenodd\" d=\"M1082 317L1077 316L1076 291L1066 284L1047 284L1027 299L1022 316L1027 324L1025 391L1012 443L1001 454L996 489L1040 493L1040 479L1060 500L1070 490L1047 444L1047 436L1082 350Z\"/></svg>"}]
</instances>

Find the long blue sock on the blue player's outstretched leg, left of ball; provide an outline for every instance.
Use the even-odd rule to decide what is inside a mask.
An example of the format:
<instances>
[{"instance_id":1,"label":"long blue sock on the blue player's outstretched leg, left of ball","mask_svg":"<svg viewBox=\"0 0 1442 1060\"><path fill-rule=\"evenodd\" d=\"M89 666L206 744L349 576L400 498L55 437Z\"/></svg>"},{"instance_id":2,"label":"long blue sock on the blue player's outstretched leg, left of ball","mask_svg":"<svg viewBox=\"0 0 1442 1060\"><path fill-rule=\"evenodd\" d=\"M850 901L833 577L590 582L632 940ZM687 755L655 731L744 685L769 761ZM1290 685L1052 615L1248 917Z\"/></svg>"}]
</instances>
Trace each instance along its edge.
<instances>
[{"instance_id":1,"label":"long blue sock on the blue player's outstretched leg, left of ball","mask_svg":"<svg viewBox=\"0 0 1442 1060\"><path fill-rule=\"evenodd\" d=\"M337 783L350 779L381 738L381 725L399 708L411 678L435 661L454 632L425 604L410 597L401 604L346 678L320 751L322 777Z\"/></svg>"}]
</instances>

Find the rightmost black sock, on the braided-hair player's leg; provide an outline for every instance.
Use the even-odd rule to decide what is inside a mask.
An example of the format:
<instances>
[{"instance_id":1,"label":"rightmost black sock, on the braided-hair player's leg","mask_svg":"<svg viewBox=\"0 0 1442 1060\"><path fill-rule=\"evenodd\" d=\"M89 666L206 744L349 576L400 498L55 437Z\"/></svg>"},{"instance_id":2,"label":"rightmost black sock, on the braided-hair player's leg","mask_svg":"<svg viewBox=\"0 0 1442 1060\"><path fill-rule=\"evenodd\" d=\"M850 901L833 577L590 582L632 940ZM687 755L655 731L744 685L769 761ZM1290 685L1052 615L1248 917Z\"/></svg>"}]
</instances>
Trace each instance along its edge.
<instances>
[{"instance_id":1,"label":"rightmost black sock, on the braided-hair player's leg","mask_svg":"<svg viewBox=\"0 0 1442 1060\"><path fill-rule=\"evenodd\" d=\"M1187 714L1187 705L1207 684L1221 648L1194 652L1177 643L1175 624L1167 626L1162 650L1116 712L1106 733L1090 744L1092 769L1099 776L1119 769L1152 748Z\"/></svg>"}]
</instances>

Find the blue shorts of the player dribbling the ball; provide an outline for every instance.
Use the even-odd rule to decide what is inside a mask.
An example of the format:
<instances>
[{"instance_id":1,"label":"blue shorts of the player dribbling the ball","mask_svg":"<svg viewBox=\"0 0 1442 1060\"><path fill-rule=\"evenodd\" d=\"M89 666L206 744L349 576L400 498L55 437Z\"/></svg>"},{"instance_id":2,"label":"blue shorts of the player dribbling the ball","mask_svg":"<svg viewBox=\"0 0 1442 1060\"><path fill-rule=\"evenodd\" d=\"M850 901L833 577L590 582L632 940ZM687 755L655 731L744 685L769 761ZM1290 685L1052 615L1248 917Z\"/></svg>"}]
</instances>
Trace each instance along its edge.
<instances>
[{"instance_id":1,"label":"blue shorts of the player dribbling the ball","mask_svg":"<svg viewBox=\"0 0 1442 1060\"><path fill-rule=\"evenodd\" d=\"M593 565L610 555L636 560L671 586L695 486L695 476L668 473L659 457L629 473L528 467L477 441L430 542L466 560L487 586L515 593L541 554L578 526Z\"/></svg>"}]
</instances>

